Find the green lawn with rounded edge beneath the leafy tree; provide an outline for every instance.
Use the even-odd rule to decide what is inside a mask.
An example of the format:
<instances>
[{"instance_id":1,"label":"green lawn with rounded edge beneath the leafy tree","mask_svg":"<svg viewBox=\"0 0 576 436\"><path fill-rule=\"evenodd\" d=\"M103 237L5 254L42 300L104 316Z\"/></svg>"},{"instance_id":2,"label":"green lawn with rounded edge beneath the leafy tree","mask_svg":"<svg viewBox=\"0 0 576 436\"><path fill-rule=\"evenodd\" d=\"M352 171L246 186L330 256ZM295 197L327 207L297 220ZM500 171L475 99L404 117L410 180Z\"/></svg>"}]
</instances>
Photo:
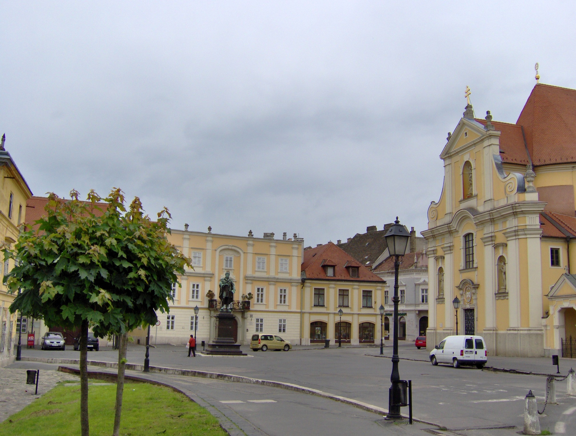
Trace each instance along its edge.
<instances>
[{"instance_id":1,"label":"green lawn with rounded edge beneath the leafy tree","mask_svg":"<svg viewBox=\"0 0 576 436\"><path fill-rule=\"evenodd\" d=\"M90 383L94 383L90 380ZM90 384L88 407L91 436L109 436L114 423L116 385ZM80 386L59 384L32 404L0 423L3 436L80 434ZM147 383L126 383L120 434L222 435L218 420L172 389Z\"/></svg>"}]
</instances>

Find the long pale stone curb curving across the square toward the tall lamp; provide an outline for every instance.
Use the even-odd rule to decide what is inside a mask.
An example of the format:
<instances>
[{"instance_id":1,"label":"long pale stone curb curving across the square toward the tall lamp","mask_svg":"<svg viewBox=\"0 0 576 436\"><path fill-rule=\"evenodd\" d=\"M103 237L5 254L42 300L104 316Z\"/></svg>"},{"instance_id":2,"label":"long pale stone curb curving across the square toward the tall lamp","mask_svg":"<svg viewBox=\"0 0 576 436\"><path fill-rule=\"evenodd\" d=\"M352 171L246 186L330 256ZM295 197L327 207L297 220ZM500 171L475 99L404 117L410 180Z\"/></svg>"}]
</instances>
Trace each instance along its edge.
<instances>
[{"instance_id":1,"label":"long pale stone curb curving across the square toward the tall lamp","mask_svg":"<svg viewBox=\"0 0 576 436\"><path fill-rule=\"evenodd\" d=\"M43 362L47 364L69 364L69 365L79 365L79 359L56 359L56 358L44 358L44 357L22 357L22 360L31 362ZM116 362L100 362L89 360L88 365L92 366L103 366L104 368L118 368ZM132 371L142 371L144 365L140 364L126 364L126 369ZM363 401L353 400L351 398L343 397L340 395L334 395L332 393L320 391L319 389L306 388L305 386L300 386L293 383L282 383L280 381L273 380L262 380L260 378L251 378L244 376L236 376L234 374L222 374L215 372L199 371L195 369L179 369L179 368L165 368L163 366L150 366L150 372L161 373L161 374L172 374L177 376L189 376L189 377L203 377L203 378L214 378L216 380L226 380L234 381L236 383L249 383L249 384L259 384L263 386L269 386L272 388L289 389L290 391L307 393L309 395L316 395L323 398L328 398L330 400L339 401L340 403L348 404L349 406L354 406L372 412L379 415L388 414L388 409L374 406L373 404L364 403ZM408 418L406 415L402 415L404 418ZM438 424L429 422L423 419L418 419L412 417L416 422L422 422L425 424L430 424L431 426L439 427Z\"/></svg>"}]
</instances>

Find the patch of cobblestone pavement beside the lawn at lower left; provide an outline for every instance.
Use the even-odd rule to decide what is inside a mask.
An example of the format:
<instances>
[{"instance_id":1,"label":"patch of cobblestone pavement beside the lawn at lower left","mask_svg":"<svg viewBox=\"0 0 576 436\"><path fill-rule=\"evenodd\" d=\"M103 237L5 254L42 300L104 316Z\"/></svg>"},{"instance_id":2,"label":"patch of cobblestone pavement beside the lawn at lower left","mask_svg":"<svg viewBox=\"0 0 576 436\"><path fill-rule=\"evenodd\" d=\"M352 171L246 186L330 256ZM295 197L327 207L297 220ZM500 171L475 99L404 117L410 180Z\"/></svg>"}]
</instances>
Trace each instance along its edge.
<instances>
[{"instance_id":1,"label":"patch of cobblestone pavement beside the lawn at lower left","mask_svg":"<svg viewBox=\"0 0 576 436\"><path fill-rule=\"evenodd\" d=\"M26 370L0 368L0 422L22 410L41 395L65 380L79 381L79 377L56 370L40 369L38 395L36 385L26 384Z\"/></svg>"}]
</instances>

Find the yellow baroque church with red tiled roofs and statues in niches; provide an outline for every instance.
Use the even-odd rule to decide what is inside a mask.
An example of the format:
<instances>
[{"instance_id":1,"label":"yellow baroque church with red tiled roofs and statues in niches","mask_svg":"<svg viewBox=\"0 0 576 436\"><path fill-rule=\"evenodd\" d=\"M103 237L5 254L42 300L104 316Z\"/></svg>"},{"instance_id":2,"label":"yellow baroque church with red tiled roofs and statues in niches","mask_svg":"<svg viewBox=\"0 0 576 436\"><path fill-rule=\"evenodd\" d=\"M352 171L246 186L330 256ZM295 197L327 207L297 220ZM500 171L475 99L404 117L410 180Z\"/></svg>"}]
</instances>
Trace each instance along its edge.
<instances>
[{"instance_id":1,"label":"yellow baroque church with red tiled roofs and statues in niches","mask_svg":"<svg viewBox=\"0 0 576 436\"><path fill-rule=\"evenodd\" d=\"M576 338L575 114L576 90L540 83L516 123L475 118L468 102L422 232L429 349L457 332L491 354L541 356Z\"/></svg>"}]
</instances>

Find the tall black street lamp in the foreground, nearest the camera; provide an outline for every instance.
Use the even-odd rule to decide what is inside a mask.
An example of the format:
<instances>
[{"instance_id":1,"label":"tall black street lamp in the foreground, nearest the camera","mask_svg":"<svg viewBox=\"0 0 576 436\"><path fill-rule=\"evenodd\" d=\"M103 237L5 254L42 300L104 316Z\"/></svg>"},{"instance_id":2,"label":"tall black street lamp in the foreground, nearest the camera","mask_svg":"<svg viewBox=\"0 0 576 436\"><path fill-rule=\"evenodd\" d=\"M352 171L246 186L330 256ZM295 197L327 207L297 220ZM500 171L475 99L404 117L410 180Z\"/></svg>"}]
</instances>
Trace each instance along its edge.
<instances>
[{"instance_id":1,"label":"tall black street lamp in the foreground, nearest the camera","mask_svg":"<svg viewBox=\"0 0 576 436\"><path fill-rule=\"evenodd\" d=\"M408 240L410 240L410 232L405 225L401 225L398 217L394 224L388 229L386 235L386 244L388 245L388 253L395 257L394 261L394 296L392 297L392 303L394 303L394 342L392 350L392 374L390 376L390 381L392 386L388 392L388 415L386 419L402 419L400 414L400 372L398 370L398 363L400 358L398 357L398 270L400 269L399 258L406 254L406 247L408 246Z\"/></svg>"}]
</instances>

